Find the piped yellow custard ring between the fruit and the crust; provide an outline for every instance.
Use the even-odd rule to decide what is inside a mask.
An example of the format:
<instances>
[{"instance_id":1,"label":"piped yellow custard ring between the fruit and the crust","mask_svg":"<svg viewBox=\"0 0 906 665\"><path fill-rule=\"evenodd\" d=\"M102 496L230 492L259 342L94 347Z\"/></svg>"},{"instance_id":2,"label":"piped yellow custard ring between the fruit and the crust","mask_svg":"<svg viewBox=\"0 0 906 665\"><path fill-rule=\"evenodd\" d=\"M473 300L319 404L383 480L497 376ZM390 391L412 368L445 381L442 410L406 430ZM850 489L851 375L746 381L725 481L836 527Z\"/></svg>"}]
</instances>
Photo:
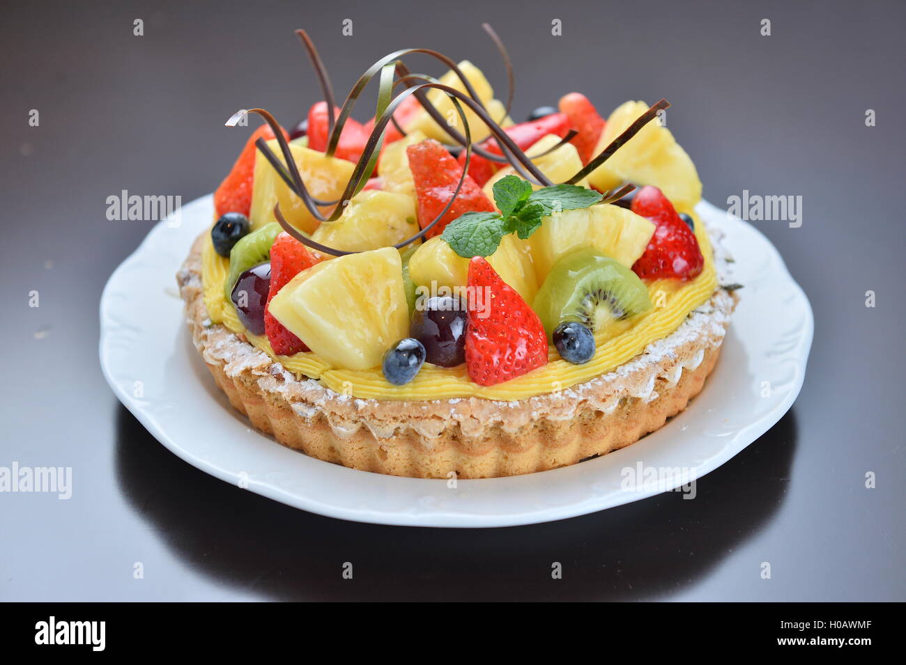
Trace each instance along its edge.
<instances>
[{"instance_id":1,"label":"piped yellow custard ring between the fruit and the crust","mask_svg":"<svg viewBox=\"0 0 906 665\"><path fill-rule=\"evenodd\" d=\"M717 289L718 279L714 268L708 233L699 217L695 220L695 234L699 239L705 267L698 277L686 282L656 280L648 284L654 307L623 322L619 334L599 339L592 360L584 365L573 365L561 359L554 347L549 349L547 365L502 384L483 386L472 383L466 366L439 367L425 363L415 379L407 385L392 385L381 373L380 367L364 370L345 370L331 367L313 353L294 356L277 356L267 337L246 332L233 304L226 299L223 284L229 272L229 260L214 251L209 238L202 252L202 284L205 306L211 321L221 323L235 333L243 334L255 347L274 358L294 375L305 375L320 380L323 385L338 393L352 394L362 399L437 400L455 397L483 397L492 400L519 400L537 394L552 393L581 384L594 376L611 371L640 354L651 342L669 336ZM609 334L612 335L613 328Z\"/></svg>"}]
</instances>

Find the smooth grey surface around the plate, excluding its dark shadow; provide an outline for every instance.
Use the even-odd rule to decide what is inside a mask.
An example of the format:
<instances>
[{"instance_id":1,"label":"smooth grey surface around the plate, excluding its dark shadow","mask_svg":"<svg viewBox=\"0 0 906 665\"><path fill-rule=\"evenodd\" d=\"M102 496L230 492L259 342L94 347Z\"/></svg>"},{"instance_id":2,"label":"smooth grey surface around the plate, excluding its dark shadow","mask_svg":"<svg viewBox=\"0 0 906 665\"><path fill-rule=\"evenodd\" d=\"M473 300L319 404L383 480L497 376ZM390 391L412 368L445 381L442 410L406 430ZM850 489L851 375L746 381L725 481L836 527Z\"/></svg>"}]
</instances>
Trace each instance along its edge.
<instances>
[{"instance_id":1,"label":"smooth grey surface around the plate, excluding its dark shadow","mask_svg":"<svg viewBox=\"0 0 906 665\"><path fill-rule=\"evenodd\" d=\"M69 501L0 495L0 599L906 599L902 3L11 5L0 20L0 465L71 465L76 485ZM354 36L341 36L343 18ZM553 18L563 37L550 35ZM792 411L700 480L696 500L668 494L534 527L346 523L178 460L101 377L101 288L150 228L107 221L105 198L192 200L245 140L222 126L234 110L300 117L317 91L296 27L340 94L404 46L471 59L503 94L483 21L516 62L516 119L571 90L605 112L663 96L710 201L803 196L801 228L757 223L814 307ZM868 470L877 489L863 487Z\"/></svg>"}]
</instances>

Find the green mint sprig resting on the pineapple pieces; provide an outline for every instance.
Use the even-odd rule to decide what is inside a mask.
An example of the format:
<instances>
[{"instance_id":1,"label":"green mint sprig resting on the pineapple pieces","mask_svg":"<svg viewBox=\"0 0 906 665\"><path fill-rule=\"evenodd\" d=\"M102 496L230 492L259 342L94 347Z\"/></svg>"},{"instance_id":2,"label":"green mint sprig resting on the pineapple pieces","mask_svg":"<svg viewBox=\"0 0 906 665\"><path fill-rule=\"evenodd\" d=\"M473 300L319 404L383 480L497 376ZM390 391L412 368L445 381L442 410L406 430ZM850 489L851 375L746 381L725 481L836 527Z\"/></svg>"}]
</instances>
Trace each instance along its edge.
<instances>
[{"instance_id":1,"label":"green mint sprig resting on the pineapple pieces","mask_svg":"<svg viewBox=\"0 0 906 665\"><path fill-rule=\"evenodd\" d=\"M579 185L551 185L533 191L532 184L518 176L500 178L493 189L499 213L462 214L440 234L463 258L490 256L507 233L516 233L525 240L538 230L545 217L587 208L603 198L593 189Z\"/></svg>"}]
</instances>

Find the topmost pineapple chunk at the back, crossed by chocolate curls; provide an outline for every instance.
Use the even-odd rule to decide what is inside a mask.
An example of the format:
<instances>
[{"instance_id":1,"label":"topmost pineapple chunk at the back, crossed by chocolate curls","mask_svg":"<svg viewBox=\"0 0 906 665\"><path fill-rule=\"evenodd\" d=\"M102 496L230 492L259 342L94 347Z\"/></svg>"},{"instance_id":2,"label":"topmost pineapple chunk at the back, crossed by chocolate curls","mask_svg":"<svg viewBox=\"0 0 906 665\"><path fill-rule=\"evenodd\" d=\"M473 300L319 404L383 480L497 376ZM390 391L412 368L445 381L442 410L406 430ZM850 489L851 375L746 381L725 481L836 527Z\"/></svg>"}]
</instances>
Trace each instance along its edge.
<instances>
[{"instance_id":1,"label":"topmost pineapple chunk at the back, crossed by chocolate curls","mask_svg":"<svg viewBox=\"0 0 906 665\"><path fill-rule=\"evenodd\" d=\"M468 82L472 84L472 87L478 95L478 99L485 105L485 109L487 109L491 118L494 119L498 125L503 127L512 125L513 121L506 118L506 109L504 108L503 103L494 99L494 89L491 88L491 84L487 82L485 74L467 60L459 63L459 70L462 71ZM462 84L462 81L459 81L459 77L455 71L448 71L440 77L439 81L444 85L448 85L450 88L466 92L466 86ZM434 105L434 108L438 109L440 114L447 119L447 122L451 127L457 128L461 133L465 133L460 127L462 119L459 118L459 114L454 108L453 102L450 101L450 98L445 92L442 90L429 90L428 99ZM482 138L487 138L490 134L487 125L477 117L472 109L467 108L465 104L462 104L461 106L463 112L466 114L468 128L472 133L472 142L475 143ZM453 139L449 137L448 133L444 131L443 128L439 127L438 123L429 116L428 111L425 109L420 109L407 123L404 129L406 129L407 132L421 131L429 138L437 138L441 143L453 142Z\"/></svg>"}]
</instances>

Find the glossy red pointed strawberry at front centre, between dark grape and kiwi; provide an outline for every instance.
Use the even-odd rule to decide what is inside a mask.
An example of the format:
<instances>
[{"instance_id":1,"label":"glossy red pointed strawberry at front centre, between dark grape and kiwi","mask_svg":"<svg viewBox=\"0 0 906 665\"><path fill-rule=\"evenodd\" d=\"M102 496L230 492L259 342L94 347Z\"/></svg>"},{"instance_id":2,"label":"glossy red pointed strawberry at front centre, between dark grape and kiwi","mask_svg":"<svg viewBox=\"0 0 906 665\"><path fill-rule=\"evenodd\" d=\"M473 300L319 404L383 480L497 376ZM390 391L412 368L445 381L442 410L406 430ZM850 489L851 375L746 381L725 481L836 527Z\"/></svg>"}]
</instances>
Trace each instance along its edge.
<instances>
[{"instance_id":1,"label":"glossy red pointed strawberry at front centre, between dark grape and kiwi","mask_svg":"<svg viewBox=\"0 0 906 665\"><path fill-rule=\"evenodd\" d=\"M547 363L541 319L480 256L468 264L466 369L478 385L495 385Z\"/></svg>"}]
</instances>

